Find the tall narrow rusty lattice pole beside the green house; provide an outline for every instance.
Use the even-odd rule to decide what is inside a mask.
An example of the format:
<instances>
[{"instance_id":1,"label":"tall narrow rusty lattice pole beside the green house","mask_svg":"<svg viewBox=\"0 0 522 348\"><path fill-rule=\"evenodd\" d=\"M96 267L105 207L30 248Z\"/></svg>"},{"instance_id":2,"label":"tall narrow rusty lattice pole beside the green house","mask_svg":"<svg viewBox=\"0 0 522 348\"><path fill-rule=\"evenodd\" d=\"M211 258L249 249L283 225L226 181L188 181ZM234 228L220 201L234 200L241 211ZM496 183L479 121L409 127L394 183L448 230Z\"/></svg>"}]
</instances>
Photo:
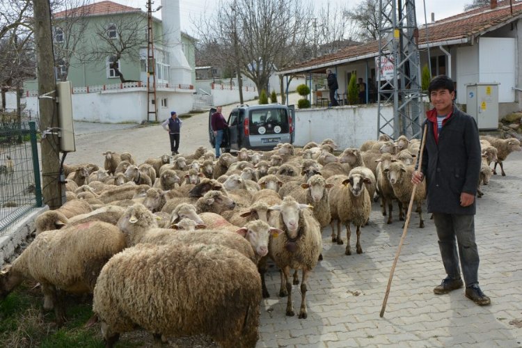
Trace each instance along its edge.
<instances>
[{"instance_id":1,"label":"tall narrow rusty lattice pole beside the green house","mask_svg":"<svg viewBox=\"0 0 522 348\"><path fill-rule=\"evenodd\" d=\"M158 120L158 104L156 100L156 61L154 59L154 38L152 36L152 0L147 2L148 31L147 31L147 120L154 114ZM152 81L151 81L152 80ZM154 108L152 111L152 107Z\"/></svg>"}]
</instances>

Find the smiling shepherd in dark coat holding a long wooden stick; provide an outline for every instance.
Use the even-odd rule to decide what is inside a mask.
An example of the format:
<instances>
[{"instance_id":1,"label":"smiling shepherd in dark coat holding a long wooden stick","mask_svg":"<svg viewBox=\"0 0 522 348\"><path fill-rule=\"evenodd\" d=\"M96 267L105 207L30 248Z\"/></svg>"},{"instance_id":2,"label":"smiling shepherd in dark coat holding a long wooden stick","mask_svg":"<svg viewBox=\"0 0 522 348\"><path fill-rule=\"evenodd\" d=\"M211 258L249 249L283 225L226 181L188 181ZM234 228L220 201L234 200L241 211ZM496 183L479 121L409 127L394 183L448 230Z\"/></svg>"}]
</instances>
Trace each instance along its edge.
<instances>
[{"instance_id":1,"label":"smiling shepherd in dark coat holding a long wooden stick","mask_svg":"<svg viewBox=\"0 0 522 348\"><path fill-rule=\"evenodd\" d=\"M466 297L480 306L489 305L491 300L478 285L479 255L475 243L475 195L481 164L477 123L453 105L454 85L449 77L434 77L428 93L434 109L427 112L425 121L422 168L413 173L411 181L418 184L427 180L428 212L433 213L448 274L434 293L447 294L463 286L460 258Z\"/></svg>"}]
</instances>

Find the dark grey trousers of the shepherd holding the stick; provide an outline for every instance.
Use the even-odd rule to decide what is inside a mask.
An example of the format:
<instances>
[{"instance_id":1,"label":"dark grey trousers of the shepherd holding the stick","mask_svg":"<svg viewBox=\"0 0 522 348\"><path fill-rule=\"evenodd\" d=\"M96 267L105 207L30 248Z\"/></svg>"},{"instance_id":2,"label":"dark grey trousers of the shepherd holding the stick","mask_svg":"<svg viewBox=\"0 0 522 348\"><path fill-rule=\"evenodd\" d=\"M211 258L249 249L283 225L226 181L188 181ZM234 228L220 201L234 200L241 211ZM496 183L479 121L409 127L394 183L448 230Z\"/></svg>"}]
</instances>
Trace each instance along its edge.
<instances>
[{"instance_id":1,"label":"dark grey trousers of the shepherd holding the stick","mask_svg":"<svg viewBox=\"0 0 522 348\"><path fill-rule=\"evenodd\" d=\"M466 287L478 285L479 255L475 244L475 216L433 213L433 219L446 274L452 279L460 278L460 258Z\"/></svg>"}]
</instances>

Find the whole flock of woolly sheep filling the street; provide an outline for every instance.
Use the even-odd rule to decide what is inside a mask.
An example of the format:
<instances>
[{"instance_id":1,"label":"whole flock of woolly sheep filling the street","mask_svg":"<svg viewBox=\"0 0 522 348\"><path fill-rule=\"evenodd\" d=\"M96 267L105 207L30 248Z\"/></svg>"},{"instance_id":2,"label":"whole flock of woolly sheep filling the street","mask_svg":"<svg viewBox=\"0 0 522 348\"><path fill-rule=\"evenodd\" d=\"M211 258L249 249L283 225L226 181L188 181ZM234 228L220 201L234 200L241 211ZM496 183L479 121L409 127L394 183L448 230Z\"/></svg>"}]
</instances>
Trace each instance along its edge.
<instances>
[{"instance_id":1,"label":"whole flock of woolly sheep filling the street","mask_svg":"<svg viewBox=\"0 0 522 348\"><path fill-rule=\"evenodd\" d=\"M521 150L516 139L481 143L479 196L493 174L490 162L505 175L503 160ZM336 148L331 139L303 148L285 143L215 160L202 146L139 165L128 152L108 151L103 169L64 165L67 203L38 217L34 241L1 271L0 299L22 280L36 280L44 308L54 309L61 324L59 290L92 293L93 320L100 320L108 347L136 326L158 341L203 333L222 347L255 347L260 301L269 296L268 260L281 270L286 315L295 314L292 284L301 283L299 318L306 318L322 228L331 224L332 242L346 242L351 255L351 225L356 253L363 253L361 228L374 198L381 198L386 223L393 222L394 202L404 220L420 142L383 135L338 156ZM420 228L424 185L414 198Z\"/></svg>"}]
</instances>

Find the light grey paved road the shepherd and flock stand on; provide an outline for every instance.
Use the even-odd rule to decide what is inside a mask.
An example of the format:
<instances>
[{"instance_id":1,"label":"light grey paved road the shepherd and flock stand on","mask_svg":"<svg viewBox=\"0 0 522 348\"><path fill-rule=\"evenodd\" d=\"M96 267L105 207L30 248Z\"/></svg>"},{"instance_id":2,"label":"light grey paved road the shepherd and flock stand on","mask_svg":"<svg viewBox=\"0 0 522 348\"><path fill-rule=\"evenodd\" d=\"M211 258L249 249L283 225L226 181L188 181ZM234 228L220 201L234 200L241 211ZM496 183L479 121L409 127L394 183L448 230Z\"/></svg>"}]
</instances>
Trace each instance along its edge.
<instances>
[{"instance_id":1,"label":"light grey paved road the shepherd and flock stand on","mask_svg":"<svg viewBox=\"0 0 522 348\"><path fill-rule=\"evenodd\" d=\"M181 152L208 145L206 127L206 113L185 120ZM77 122L75 129L77 152L66 163L102 164L105 150L127 150L138 161L169 152L168 136L159 125ZM505 171L506 177L496 175L484 187L475 219L480 285L491 306L476 306L463 290L433 294L445 276L434 224L426 214L426 228L420 229L413 214L380 318L402 223L386 225L374 203L370 225L362 232L363 254L345 255L346 235L345 245L333 245L330 229L324 230L324 260L308 283L308 319L285 316L286 298L277 296L279 274L269 271L271 297L262 301L258 347L522 347L522 152L509 155ZM299 285L293 294L299 311Z\"/></svg>"}]
</instances>

